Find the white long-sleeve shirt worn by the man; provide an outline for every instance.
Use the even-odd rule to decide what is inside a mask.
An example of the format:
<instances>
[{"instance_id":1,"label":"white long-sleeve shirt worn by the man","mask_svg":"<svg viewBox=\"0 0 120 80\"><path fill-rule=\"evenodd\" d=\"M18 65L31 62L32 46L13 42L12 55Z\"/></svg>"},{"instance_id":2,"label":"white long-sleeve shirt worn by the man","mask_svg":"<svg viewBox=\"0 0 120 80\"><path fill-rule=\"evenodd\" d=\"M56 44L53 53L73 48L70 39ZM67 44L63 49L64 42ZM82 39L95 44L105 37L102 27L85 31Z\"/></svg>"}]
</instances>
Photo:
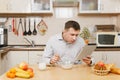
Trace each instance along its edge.
<instances>
[{"instance_id":1,"label":"white long-sleeve shirt worn by the man","mask_svg":"<svg viewBox=\"0 0 120 80\"><path fill-rule=\"evenodd\" d=\"M48 40L42 58L46 64L50 63L54 54L58 54L62 61L66 60L65 58L74 61L84 46L85 42L80 37L77 37L74 43L69 44L63 40L62 33L56 34Z\"/></svg>"}]
</instances>

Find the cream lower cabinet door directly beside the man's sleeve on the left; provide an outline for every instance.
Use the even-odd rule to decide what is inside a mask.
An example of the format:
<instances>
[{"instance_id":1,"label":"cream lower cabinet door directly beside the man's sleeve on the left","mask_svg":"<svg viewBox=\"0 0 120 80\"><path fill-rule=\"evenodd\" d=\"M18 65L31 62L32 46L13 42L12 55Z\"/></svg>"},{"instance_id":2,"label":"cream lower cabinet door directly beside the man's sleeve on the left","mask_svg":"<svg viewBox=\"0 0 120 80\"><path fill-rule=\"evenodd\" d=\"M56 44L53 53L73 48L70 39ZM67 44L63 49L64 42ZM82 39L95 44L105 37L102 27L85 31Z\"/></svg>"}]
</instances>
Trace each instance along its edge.
<instances>
[{"instance_id":1,"label":"cream lower cabinet door directly beside the man's sleeve on the left","mask_svg":"<svg viewBox=\"0 0 120 80\"><path fill-rule=\"evenodd\" d=\"M29 64L38 64L42 54L43 51L29 51Z\"/></svg>"}]
</instances>

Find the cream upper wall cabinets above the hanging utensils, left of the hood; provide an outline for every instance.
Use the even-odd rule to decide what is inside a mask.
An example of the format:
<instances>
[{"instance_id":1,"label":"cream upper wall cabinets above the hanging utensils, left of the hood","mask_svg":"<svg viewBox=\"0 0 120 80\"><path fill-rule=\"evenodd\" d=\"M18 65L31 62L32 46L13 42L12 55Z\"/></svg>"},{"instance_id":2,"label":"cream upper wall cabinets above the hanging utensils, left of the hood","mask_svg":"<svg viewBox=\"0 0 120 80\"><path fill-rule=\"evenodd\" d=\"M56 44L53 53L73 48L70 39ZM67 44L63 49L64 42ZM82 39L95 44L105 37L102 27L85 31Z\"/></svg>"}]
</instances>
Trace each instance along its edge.
<instances>
[{"instance_id":1,"label":"cream upper wall cabinets above the hanging utensils, left of the hood","mask_svg":"<svg viewBox=\"0 0 120 80\"><path fill-rule=\"evenodd\" d=\"M0 0L0 13L52 13L52 0ZM28 14L28 15L29 15Z\"/></svg>"}]
</instances>

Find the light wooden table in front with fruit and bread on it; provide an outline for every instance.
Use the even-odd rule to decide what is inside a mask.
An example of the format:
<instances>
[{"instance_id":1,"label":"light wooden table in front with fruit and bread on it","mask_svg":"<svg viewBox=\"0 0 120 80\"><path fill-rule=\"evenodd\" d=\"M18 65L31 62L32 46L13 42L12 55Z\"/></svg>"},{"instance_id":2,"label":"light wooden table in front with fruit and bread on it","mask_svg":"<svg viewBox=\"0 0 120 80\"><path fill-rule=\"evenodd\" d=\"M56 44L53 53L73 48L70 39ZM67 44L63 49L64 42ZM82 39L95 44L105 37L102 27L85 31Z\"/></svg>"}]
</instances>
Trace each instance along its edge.
<instances>
[{"instance_id":1,"label":"light wooden table in front with fruit and bread on it","mask_svg":"<svg viewBox=\"0 0 120 80\"><path fill-rule=\"evenodd\" d=\"M106 76L94 74L91 67L87 65L76 65L70 70L60 67L47 67L47 70L40 71L37 65L32 66L35 76L30 79L10 79L3 74L0 80L120 80L120 75L109 73Z\"/></svg>"}]
</instances>

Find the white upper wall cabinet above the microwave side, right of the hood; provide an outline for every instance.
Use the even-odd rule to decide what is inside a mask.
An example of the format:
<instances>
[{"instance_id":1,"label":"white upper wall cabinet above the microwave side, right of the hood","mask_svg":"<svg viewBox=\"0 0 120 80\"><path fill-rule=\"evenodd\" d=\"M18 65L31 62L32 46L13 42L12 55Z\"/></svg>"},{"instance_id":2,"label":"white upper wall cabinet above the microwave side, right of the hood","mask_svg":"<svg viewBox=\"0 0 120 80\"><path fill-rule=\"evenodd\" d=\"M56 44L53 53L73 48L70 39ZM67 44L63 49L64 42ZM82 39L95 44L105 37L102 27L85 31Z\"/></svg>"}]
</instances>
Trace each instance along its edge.
<instances>
[{"instance_id":1,"label":"white upper wall cabinet above the microwave side, right of the hood","mask_svg":"<svg viewBox=\"0 0 120 80\"><path fill-rule=\"evenodd\" d=\"M79 13L120 13L120 0L80 0Z\"/></svg>"}]
</instances>

